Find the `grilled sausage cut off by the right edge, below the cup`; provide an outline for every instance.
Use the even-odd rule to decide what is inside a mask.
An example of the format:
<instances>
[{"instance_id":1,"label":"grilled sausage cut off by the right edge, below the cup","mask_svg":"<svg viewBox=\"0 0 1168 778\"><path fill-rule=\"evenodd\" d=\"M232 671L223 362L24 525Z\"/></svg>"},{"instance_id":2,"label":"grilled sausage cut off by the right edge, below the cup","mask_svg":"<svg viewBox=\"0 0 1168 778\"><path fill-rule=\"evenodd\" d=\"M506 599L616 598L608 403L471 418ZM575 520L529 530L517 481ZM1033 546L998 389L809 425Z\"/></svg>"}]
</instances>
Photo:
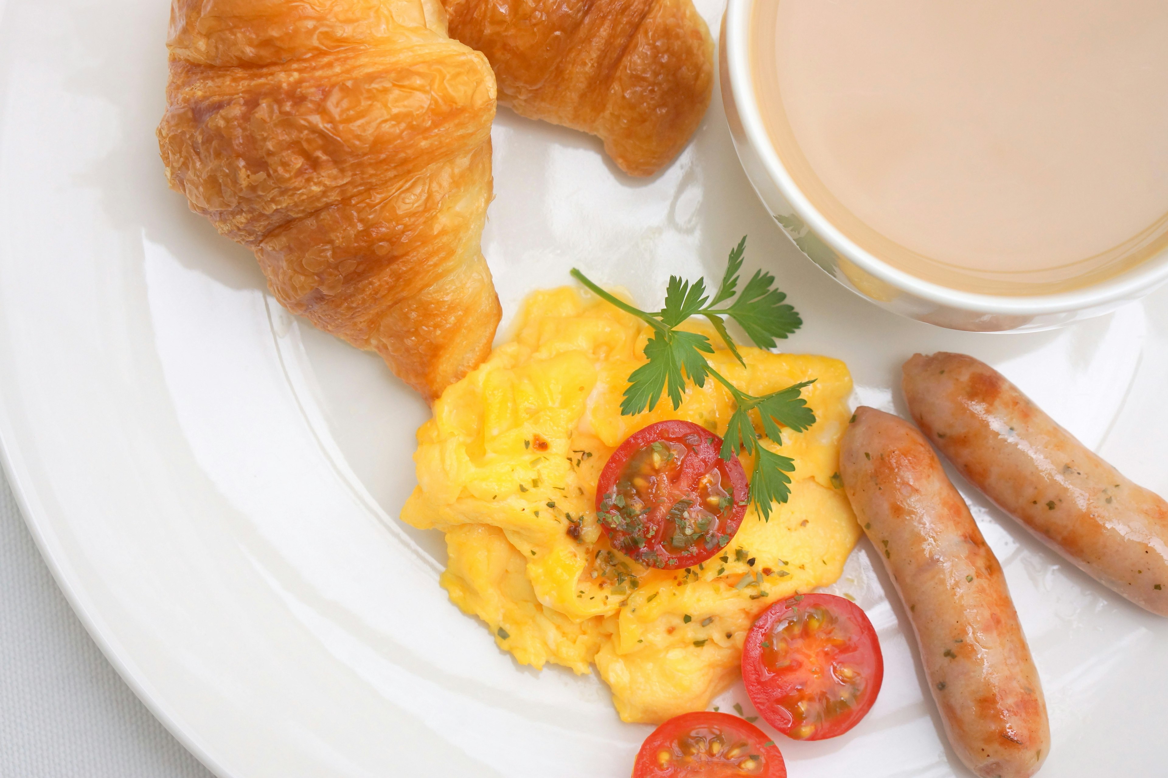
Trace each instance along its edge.
<instances>
[{"instance_id":1,"label":"grilled sausage cut off by the right edge, below the cup","mask_svg":"<svg viewBox=\"0 0 1168 778\"><path fill-rule=\"evenodd\" d=\"M1168 503L973 357L916 355L904 395L929 440L999 507L1104 586L1168 616Z\"/></svg>"}]
</instances>

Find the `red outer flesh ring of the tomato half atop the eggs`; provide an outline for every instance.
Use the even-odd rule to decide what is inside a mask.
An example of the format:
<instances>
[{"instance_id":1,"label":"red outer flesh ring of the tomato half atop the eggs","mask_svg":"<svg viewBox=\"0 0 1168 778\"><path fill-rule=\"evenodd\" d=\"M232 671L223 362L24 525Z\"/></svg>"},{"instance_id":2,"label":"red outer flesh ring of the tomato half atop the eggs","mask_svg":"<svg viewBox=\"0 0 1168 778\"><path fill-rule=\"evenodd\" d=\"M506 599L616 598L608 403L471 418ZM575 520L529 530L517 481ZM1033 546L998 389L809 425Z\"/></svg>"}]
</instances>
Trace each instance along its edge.
<instances>
[{"instance_id":1,"label":"red outer flesh ring of the tomato half atop the eggs","mask_svg":"<svg viewBox=\"0 0 1168 778\"><path fill-rule=\"evenodd\" d=\"M746 514L746 504L750 500L750 483L746 481L746 471L743 470L742 462L738 460L737 455L731 455L730 460L721 460L718 454L722 450L722 439L705 427L696 425L691 421L658 421L638 429L635 433L626 437L624 442L617 447L617 450L612 453L612 456L609 457L604 469L600 471L600 478L597 481L596 486L597 513L602 512L602 504L604 503L605 495L616 489L617 481L620 478L620 474L625 469L625 465L639 450L651 446L654 441L670 440L680 442L688 435L700 436L701 442L697 446L690 447L688 443L686 446L694 453L698 454L701 461L710 462L712 460L717 460L721 462L721 465L715 464L708 468L707 471L714 469L714 467L721 467L722 471L726 475L731 486L734 488L734 510L731 511L730 518L725 524L725 533L732 539L735 534L737 534L738 527L742 526L742 519ZM619 537L613 537L613 532L611 532L609 527L603 524L602 530L604 530L605 534L609 535L613 548L627 553L625 548L620 546ZM658 541L655 546L656 547L653 548L653 551L659 551L665 546L665 544L663 541ZM646 546L646 548L648 547ZM695 548L694 552L688 554L672 554L670 552L665 552L668 561L663 565L654 565L653 567L658 567L663 570L677 570L683 567L694 567L698 562L704 562L721 552L722 548ZM637 559L635 554L630 555Z\"/></svg>"}]
</instances>

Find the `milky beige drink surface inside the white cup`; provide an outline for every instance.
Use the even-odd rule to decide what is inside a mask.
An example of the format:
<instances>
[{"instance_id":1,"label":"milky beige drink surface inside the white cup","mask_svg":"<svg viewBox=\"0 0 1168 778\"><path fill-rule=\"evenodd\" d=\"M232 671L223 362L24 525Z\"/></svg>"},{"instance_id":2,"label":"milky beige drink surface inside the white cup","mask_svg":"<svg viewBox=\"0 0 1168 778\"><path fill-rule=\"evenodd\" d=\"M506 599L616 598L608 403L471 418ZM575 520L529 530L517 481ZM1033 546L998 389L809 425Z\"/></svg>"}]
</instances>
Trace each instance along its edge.
<instances>
[{"instance_id":1,"label":"milky beige drink surface inside the white cup","mask_svg":"<svg viewBox=\"0 0 1168 778\"><path fill-rule=\"evenodd\" d=\"M780 159L894 266L1045 294L1168 243L1168 1L762 0L756 14Z\"/></svg>"}]
</instances>

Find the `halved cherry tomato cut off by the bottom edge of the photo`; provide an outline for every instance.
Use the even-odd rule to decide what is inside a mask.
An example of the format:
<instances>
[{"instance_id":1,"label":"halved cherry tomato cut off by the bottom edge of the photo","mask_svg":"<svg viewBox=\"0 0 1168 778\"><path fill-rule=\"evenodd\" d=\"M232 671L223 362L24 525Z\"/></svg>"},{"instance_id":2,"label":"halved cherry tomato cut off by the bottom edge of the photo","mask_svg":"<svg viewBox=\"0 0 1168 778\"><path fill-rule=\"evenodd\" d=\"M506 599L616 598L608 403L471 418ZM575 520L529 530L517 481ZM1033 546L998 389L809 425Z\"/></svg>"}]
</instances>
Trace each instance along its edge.
<instances>
[{"instance_id":1,"label":"halved cherry tomato cut off by the bottom edge of the photo","mask_svg":"<svg viewBox=\"0 0 1168 778\"><path fill-rule=\"evenodd\" d=\"M787 778L783 754L762 729L725 713L684 713L641 743L633 778Z\"/></svg>"}]
</instances>

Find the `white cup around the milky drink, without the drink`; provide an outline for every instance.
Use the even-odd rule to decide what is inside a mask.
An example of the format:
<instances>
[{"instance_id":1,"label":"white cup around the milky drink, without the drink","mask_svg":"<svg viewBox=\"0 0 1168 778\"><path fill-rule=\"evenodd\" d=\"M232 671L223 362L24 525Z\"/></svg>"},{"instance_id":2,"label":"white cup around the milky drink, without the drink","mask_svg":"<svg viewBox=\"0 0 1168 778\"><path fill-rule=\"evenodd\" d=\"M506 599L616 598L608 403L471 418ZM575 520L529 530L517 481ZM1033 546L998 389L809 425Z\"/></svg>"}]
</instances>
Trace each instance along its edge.
<instances>
[{"instance_id":1,"label":"white cup around the milky drink, without the drink","mask_svg":"<svg viewBox=\"0 0 1168 778\"><path fill-rule=\"evenodd\" d=\"M787 171L763 120L750 61L758 2L729 0L718 44L722 100L738 159L784 232L853 292L909 318L958 330L1042 330L1108 313L1168 281L1168 251L1098 283L1049 295L1010 296L948 288L913 276L856 245L811 203Z\"/></svg>"}]
</instances>

